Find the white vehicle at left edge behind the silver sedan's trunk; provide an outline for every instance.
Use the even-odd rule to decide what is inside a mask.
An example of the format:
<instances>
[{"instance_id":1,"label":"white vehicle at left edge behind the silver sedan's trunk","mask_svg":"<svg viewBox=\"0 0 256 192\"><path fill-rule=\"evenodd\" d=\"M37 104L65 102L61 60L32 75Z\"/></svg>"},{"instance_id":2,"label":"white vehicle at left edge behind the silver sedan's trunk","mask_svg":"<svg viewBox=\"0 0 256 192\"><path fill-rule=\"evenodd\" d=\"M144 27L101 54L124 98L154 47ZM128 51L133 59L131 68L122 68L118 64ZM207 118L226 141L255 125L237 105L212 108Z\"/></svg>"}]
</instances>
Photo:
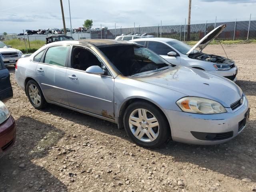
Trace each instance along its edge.
<instances>
[{"instance_id":1,"label":"white vehicle at left edge behind the silver sedan's trunk","mask_svg":"<svg viewBox=\"0 0 256 192\"><path fill-rule=\"evenodd\" d=\"M11 46L0 42L0 56L4 61L4 65L15 65L16 61L21 58L22 52L18 49L11 48Z\"/></svg>"}]
</instances>

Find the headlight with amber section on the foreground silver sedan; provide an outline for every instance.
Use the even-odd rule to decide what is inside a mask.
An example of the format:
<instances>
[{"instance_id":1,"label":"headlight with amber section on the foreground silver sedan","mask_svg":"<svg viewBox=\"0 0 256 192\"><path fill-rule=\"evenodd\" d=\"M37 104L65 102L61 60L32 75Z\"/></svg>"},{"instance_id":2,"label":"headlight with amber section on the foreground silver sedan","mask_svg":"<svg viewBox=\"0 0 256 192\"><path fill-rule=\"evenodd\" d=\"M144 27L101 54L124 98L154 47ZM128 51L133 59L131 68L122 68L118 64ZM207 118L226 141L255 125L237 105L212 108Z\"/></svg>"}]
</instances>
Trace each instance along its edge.
<instances>
[{"instance_id":1,"label":"headlight with amber section on the foreground silver sedan","mask_svg":"<svg viewBox=\"0 0 256 192\"><path fill-rule=\"evenodd\" d=\"M176 102L184 112L199 114L217 114L227 112L224 106L214 100L201 97L184 97Z\"/></svg>"}]
</instances>

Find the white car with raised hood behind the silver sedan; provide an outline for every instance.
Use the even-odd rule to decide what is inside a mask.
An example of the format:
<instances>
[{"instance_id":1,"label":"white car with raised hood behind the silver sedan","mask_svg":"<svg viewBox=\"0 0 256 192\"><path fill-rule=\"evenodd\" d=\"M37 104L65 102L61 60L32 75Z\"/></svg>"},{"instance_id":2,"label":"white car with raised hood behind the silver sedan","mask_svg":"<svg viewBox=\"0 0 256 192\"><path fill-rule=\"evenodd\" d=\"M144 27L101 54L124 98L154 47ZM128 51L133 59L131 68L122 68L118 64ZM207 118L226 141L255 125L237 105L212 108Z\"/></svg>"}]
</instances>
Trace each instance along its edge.
<instances>
[{"instance_id":1,"label":"white car with raised hood behind the silver sedan","mask_svg":"<svg viewBox=\"0 0 256 192\"><path fill-rule=\"evenodd\" d=\"M184 42L170 38L146 38L132 41L148 47L172 64L205 70L236 81L238 67L233 60L202 52L225 27L226 24L218 26L192 48ZM200 51L196 48L199 48Z\"/></svg>"}]
</instances>

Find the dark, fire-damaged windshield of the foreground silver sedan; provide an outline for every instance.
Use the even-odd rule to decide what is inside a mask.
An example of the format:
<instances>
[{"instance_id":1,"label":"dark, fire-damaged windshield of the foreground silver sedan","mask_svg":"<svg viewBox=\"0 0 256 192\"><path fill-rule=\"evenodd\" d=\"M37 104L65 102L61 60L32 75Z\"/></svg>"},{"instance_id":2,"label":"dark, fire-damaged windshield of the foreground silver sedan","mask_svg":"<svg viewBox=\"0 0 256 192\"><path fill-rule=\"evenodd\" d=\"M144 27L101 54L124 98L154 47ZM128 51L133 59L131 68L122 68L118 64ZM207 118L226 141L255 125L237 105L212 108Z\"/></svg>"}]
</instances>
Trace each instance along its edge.
<instances>
[{"instance_id":1,"label":"dark, fire-damaged windshield of the foreground silver sedan","mask_svg":"<svg viewBox=\"0 0 256 192\"><path fill-rule=\"evenodd\" d=\"M99 47L124 76L150 74L172 67L148 48L134 44Z\"/></svg>"}]
</instances>

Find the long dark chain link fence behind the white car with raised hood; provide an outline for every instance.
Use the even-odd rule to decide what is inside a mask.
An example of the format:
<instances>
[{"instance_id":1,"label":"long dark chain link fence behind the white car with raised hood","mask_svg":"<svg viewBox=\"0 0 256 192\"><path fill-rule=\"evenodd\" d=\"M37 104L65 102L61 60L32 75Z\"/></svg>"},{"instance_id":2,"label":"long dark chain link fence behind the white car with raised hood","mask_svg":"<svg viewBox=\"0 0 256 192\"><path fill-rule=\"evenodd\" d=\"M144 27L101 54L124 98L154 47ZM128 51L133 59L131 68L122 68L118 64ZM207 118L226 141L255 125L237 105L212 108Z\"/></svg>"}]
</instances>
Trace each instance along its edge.
<instances>
[{"instance_id":1,"label":"long dark chain link fence behind the white car with raised hood","mask_svg":"<svg viewBox=\"0 0 256 192\"><path fill-rule=\"evenodd\" d=\"M249 27L250 23L250 27ZM188 39L188 25L170 25L170 26L150 26L150 27L132 27L116 28L108 30L91 31L91 38L114 39L122 34L149 34L156 37L174 38L177 40L198 41L215 27L227 24L224 31L218 36L220 40L246 40L256 39L256 18L247 21L232 22L211 22L190 25L190 38Z\"/></svg>"}]
</instances>

